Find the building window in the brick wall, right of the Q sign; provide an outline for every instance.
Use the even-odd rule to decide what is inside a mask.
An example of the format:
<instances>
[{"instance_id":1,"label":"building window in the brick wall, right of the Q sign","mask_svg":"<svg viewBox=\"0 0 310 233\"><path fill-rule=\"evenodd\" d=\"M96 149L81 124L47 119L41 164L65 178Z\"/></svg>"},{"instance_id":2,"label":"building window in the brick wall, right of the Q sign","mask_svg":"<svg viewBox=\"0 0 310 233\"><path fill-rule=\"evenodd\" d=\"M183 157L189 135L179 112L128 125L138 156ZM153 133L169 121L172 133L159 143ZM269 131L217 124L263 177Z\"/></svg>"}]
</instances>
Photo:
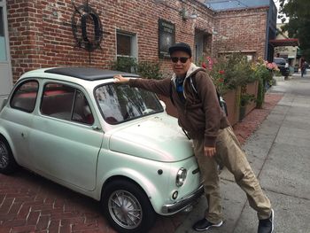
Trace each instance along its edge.
<instances>
[{"instance_id":1,"label":"building window in the brick wall, right of the Q sign","mask_svg":"<svg viewBox=\"0 0 310 233\"><path fill-rule=\"evenodd\" d=\"M136 58L136 35L125 32L116 32L117 57Z\"/></svg>"}]
</instances>

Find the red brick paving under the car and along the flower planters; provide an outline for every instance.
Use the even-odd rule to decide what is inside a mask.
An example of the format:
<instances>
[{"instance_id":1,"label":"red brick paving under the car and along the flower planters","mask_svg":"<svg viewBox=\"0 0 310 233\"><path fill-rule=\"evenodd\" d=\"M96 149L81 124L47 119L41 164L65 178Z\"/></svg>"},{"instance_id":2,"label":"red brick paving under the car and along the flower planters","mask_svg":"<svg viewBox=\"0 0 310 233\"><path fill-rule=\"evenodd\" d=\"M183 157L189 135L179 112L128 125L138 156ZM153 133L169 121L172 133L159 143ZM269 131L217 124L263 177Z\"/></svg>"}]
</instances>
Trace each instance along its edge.
<instances>
[{"instance_id":1,"label":"red brick paving under the car and along the flower planters","mask_svg":"<svg viewBox=\"0 0 310 233\"><path fill-rule=\"evenodd\" d=\"M281 94L267 94L262 109L254 109L234 128L243 144L267 117ZM188 213L159 217L151 233L171 233ZM112 233L97 201L21 169L0 175L0 233Z\"/></svg>"}]
</instances>

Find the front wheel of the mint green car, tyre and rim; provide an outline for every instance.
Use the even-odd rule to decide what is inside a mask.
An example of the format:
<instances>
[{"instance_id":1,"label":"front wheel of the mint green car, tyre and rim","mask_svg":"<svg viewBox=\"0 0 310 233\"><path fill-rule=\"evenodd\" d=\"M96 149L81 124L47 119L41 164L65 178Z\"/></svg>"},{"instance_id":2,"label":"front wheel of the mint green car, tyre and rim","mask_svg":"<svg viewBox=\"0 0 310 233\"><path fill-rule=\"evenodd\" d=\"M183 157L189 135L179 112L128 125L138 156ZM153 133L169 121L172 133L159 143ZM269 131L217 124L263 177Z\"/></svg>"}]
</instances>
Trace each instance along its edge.
<instances>
[{"instance_id":1,"label":"front wheel of the mint green car, tyre and rim","mask_svg":"<svg viewBox=\"0 0 310 233\"><path fill-rule=\"evenodd\" d=\"M147 232L155 222L149 198L135 183L124 180L108 183L101 202L107 220L118 232Z\"/></svg>"}]
</instances>

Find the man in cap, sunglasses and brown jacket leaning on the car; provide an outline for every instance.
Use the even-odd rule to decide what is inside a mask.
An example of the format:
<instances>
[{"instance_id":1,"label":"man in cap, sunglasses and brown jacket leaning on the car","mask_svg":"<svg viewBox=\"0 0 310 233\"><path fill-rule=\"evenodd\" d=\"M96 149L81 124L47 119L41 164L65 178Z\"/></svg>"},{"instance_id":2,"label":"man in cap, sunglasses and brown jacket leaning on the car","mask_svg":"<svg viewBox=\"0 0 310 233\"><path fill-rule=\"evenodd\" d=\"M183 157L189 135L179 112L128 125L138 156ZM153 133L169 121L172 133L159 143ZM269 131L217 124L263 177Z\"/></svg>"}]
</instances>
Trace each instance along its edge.
<instances>
[{"instance_id":1,"label":"man in cap, sunglasses and brown jacket leaning on the car","mask_svg":"<svg viewBox=\"0 0 310 233\"><path fill-rule=\"evenodd\" d=\"M221 162L235 176L236 183L245 191L250 206L257 211L260 219L258 232L272 232L274 212L270 201L262 192L227 117L221 111L212 79L204 69L191 62L189 44L176 43L169 48L169 53L174 71L171 79L127 79L120 75L114 78L115 82L128 83L132 87L172 98L178 111L179 125L193 139L195 157L204 177L208 207L205 218L197 221L193 229L203 231L221 227L223 223L217 171L217 163Z\"/></svg>"}]
</instances>

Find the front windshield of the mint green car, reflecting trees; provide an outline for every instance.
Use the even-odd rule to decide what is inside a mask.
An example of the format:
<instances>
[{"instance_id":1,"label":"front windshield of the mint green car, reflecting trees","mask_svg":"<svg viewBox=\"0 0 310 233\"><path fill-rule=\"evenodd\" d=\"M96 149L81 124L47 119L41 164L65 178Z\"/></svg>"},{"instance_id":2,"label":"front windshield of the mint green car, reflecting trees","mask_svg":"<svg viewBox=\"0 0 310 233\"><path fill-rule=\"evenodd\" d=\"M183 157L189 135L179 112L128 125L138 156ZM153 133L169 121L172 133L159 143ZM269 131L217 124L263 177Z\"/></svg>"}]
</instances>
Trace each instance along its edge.
<instances>
[{"instance_id":1,"label":"front windshield of the mint green car, reflecting trees","mask_svg":"<svg viewBox=\"0 0 310 233\"><path fill-rule=\"evenodd\" d=\"M99 86L95 89L95 97L105 121L109 124L164 111L155 94L130 88L128 85L109 83Z\"/></svg>"}]
</instances>

